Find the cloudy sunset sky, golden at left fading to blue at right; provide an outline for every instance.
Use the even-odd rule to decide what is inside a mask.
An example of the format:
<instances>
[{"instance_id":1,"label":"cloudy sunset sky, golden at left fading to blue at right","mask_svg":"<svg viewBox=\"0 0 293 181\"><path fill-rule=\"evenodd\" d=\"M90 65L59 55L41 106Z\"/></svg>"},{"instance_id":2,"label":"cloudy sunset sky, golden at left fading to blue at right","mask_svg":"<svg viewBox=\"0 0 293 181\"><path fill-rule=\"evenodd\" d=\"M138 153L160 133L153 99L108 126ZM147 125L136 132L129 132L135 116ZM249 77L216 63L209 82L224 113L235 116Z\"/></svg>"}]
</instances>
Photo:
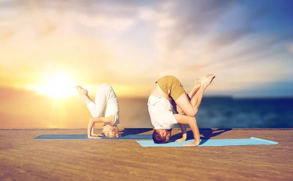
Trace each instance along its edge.
<instances>
[{"instance_id":1,"label":"cloudy sunset sky, golden at left fading to blue at right","mask_svg":"<svg viewBox=\"0 0 293 181\"><path fill-rule=\"evenodd\" d=\"M2 110L19 95L147 97L165 75L206 96L293 96L292 0L0 0ZM5 98L4 98L5 97ZM6 109L5 109L6 110Z\"/></svg>"}]
</instances>

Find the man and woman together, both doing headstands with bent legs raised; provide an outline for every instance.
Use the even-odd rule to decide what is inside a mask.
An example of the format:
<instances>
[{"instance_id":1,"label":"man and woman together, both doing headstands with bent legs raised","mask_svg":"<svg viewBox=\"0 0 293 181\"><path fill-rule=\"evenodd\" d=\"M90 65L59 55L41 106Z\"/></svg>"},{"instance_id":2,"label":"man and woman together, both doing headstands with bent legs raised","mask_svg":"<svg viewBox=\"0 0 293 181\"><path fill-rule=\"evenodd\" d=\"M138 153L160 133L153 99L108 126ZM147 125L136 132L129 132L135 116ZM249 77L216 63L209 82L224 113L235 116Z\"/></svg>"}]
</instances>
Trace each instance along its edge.
<instances>
[{"instance_id":1,"label":"man and woman together, both doing headstands with bent legs raised","mask_svg":"<svg viewBox=\"0 0 293 181\"><path fill-rule=\"evenodd\" d=\"M188 124L194 136L194 142L185 146L199 145L200 134L195 120L204 91L215 78L209 74L196 79L194 87L187 94L180 80L174 76L165 76L155 82L155 86L148 98L148 112L151 123L155 128L152 138L155 143L167 143L171 130L179 123L182 138L176 141L186 141ZM95 101L88 96L88 91L81 86L75 87L84 100L92 118L89 119L87 136L89 139L100 139L100 134L94 133L96 122L103 122L103 132L106 137L117 138L119 134L119 104L113 88L108 84L101 84L95 95ZM173 114L172 110L176 114Z\"/></svg>"}]
</instances>

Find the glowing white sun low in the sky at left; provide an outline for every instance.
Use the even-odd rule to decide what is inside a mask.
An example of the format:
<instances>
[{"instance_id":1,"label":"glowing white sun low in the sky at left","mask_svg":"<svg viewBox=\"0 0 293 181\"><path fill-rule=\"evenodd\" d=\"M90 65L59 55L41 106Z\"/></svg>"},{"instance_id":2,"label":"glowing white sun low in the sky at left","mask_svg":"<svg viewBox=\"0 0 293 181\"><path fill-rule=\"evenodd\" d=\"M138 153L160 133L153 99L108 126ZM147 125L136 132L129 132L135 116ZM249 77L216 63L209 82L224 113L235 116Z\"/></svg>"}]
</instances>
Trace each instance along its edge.
<instances>
[{"instance_id":1,"label":"glowing white sun low in the sky at left","mask_svg":"<svg viewBox=\"0 0 293 181\"><path fill-rule=\"evenodd\" d=\"M44 79L45 83L38 86L30 86L42 95L46 95L55 99L67 98L76 95L75 84L63 73L50 74Z\"/></svg>"}]
</instances>

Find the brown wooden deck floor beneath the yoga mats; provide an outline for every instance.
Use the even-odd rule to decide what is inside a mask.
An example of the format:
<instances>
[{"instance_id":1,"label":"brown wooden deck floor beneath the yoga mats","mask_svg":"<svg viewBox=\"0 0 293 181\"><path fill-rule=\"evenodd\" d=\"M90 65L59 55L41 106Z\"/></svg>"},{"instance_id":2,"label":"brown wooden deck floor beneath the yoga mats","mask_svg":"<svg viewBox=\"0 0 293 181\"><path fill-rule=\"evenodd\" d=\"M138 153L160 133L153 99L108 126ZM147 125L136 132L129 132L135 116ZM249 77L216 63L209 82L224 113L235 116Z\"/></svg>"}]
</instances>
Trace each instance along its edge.
<instances>
[{"instance_id":1,"label":"brown wooden deck floor beneath the yoga mats","mask_svg":"<svg viewBox=\"0 0 293 181\"><path fill-rule=\"evenodd\" d=\"M132 140L33 140L42 134L85 133L0 130L0 181L293 180L293 130L201 130L209 139L256 137L277 145L170 148L141 147Z\"/></svg>"}]
</instances>

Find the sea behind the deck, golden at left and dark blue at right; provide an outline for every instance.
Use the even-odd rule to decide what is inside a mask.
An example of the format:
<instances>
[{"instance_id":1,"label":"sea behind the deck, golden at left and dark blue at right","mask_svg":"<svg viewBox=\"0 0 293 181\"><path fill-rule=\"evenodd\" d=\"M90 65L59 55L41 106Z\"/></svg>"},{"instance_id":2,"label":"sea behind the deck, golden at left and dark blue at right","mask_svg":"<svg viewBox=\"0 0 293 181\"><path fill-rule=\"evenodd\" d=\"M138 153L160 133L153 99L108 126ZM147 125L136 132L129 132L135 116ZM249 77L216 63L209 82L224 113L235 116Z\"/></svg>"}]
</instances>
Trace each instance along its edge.
<instances>
[{"instance_id":1,"label":"sea behind the deck, golden at left and dark blue at right","mask_svg":"<svg viewBox=\"0 0 293 181\"><path fill-rule=\"evenodd\" d=\"M78 95L54 100L34 92L13 89L0 93L0 128L86 128L91 118ZM152 128L147 97L118 96L118 101L120 127ZM195 118L199 128L293 128L293 98L205 96ZM99 123L95 127L101 128L102 125Z\"/></svg>"}]
</instances>

